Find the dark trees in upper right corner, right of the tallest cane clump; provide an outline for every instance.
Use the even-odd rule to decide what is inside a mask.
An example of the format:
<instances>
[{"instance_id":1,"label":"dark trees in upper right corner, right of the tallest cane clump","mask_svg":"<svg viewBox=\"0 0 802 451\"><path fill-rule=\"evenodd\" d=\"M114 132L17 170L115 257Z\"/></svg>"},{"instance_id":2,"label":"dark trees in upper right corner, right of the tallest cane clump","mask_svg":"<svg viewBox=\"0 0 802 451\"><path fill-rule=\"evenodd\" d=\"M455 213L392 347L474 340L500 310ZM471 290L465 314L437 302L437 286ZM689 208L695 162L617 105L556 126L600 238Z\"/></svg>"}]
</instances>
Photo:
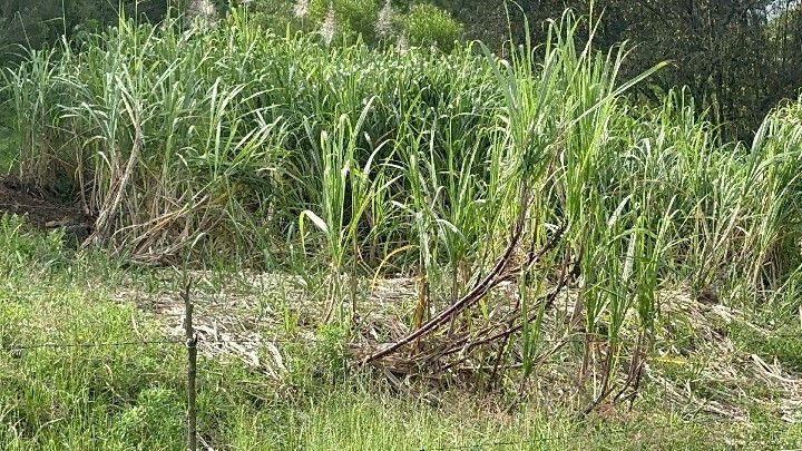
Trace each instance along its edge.
<instances>
[{"instance_id":1,"label":"dark trees in upper right corner, right of the tallest cane clump","mask_svg":"<svg viewBox=\"0 0 802 451\"><path fill-rule=\"evenodd\" d=\"M791 33L799 27L791 19L799 1L607 0L599 6L606 9L603 45L637 45L627 66L632 72L672 60L658 75L659 86L688 86L728 137L749 138L771 108L796 98L802 87L802 42Z\"/></svg>"}]
</instances>

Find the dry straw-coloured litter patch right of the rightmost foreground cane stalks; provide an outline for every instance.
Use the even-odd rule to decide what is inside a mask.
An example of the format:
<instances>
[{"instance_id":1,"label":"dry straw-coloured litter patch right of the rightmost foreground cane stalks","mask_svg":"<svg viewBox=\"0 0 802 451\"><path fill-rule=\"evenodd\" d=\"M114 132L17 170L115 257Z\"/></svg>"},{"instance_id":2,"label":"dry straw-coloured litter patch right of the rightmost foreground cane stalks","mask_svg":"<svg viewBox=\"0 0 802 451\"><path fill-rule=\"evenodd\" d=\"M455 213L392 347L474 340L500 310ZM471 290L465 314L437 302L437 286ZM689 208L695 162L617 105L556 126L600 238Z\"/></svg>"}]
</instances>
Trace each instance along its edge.
<instances>
[{"instance_id":1,"label":"dry straw-coloured litter patch right of the rightmost foreground cane stalks","mask_svg":"<svg viewBox=\"0 0 802 451\"><path fill-rule=\"evenodd\" d=\"M665 396L686 405L688 411L707 412L736 421L747 421L754 405L774 411L782 420L802 421L802 374L784 369L775 359L740 350L720 331L722 323L737 323L757 337L771 337L772 331L750 321L749 315L723 304L696 302L688 288L661 293L663 315L668 330L693 333L692 354L668 336L657 339L657 349L646 366L646 375ZM661 344L662 343L662 344ZM753 392L772 392L760 396Z\"/></svg>"}]
</instances>

